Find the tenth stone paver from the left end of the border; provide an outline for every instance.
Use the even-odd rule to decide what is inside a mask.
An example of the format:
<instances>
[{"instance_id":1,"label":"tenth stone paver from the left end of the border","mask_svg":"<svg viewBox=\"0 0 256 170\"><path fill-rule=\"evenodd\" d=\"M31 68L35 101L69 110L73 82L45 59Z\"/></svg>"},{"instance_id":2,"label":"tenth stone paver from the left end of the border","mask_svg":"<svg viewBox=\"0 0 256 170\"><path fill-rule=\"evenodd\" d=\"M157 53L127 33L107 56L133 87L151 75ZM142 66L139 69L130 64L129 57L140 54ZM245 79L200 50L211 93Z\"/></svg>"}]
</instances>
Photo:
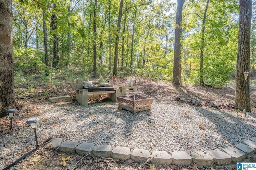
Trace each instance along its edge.
<instances>
[{"instance_id":1,"label":"tenth stone paver from the left end of the border","mask_svg":"<svg viewBox=\"0 0 256 170\"><path fill-rule=\"evenodd\" d=\"M214 164L219 166L231 164L231 156L229 154L226 154L221 150L212 150L209 153L214 158Z\"/></svg>"}]
</instances>

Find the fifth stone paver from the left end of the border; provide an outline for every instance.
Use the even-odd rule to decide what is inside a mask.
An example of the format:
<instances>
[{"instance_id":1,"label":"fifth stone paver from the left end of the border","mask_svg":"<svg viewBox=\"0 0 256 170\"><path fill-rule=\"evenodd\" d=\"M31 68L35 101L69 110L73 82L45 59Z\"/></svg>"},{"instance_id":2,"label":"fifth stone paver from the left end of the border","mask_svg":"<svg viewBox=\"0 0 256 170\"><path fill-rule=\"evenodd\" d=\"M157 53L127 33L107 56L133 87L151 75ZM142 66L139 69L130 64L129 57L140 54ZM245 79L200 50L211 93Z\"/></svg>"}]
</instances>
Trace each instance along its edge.
<instances>
[{"instance_id":1,"label":"fifth stone paver from the left end of the border","mask_svg":"<svg viewBox=\"0 0 256 170\"><path fill-rule=\"evenodd\" d=\"M115 147L111 151L111 156L114 159L130 159L131 158L131 151L130 148L127 147Z\"/></svg>"}]
</instances>

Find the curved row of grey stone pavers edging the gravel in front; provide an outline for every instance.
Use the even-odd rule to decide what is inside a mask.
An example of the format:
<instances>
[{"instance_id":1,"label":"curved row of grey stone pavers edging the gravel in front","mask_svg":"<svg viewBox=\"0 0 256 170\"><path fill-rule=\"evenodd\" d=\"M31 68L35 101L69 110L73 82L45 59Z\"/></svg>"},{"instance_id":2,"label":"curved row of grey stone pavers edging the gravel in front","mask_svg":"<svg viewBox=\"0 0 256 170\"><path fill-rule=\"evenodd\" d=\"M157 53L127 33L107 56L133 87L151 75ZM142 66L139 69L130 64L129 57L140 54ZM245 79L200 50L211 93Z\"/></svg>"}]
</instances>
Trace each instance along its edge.
<instances>
[{"instance_id":1,"label":"curved row of grey stone pavers edging the gravel in front","mask_svg":"<svg viewBox=\"0 0 256 170\"><path fill-rule=\"evenodd\" d=\"M212 150L207 154L202 151L191 151L190 154L184 151L174 151L168 154L166 151L153 150L152 154L148 150L134 149L130 152L128 147L115 147L112 150L111 145L96 145L93 143L81 143L78 141L64 141L62 138L54 138L48 143L50 149L58 149L62 152L78 153L86 155L93 153L96 156L112 157L122 160L132 159L136 162L144 163L152 158L150 162L155 165L191 165L193 162L198 166L216 168L236 168L236 162L256 162L256 137L252 137L243 143L234 147L228 147L222 150Z\"/></svg>"}]
</instances>

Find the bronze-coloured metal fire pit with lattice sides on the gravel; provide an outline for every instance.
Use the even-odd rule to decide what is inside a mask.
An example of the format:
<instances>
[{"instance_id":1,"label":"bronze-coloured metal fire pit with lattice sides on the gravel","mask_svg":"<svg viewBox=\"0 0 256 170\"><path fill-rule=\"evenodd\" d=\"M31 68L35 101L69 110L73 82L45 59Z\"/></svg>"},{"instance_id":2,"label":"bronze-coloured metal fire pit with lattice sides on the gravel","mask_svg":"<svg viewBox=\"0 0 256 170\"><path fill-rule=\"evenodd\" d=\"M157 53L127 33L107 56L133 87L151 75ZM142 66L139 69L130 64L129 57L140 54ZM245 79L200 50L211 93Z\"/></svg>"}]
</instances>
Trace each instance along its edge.
<instances>
[{"instance_id":1,"label":"bronze-coloured metal fire pit with lattice sides on the gravel","mask_svg":"<svg viewBox=\"0 0 256 170\"><path fill-rule=\"evenodd\" d=\"M154 98L141 92L129 92L116 98L119 103L118 109L122 108L133 114L138 111L151 109L151 104L154 100Z\"/></svg>"}]
</instances>

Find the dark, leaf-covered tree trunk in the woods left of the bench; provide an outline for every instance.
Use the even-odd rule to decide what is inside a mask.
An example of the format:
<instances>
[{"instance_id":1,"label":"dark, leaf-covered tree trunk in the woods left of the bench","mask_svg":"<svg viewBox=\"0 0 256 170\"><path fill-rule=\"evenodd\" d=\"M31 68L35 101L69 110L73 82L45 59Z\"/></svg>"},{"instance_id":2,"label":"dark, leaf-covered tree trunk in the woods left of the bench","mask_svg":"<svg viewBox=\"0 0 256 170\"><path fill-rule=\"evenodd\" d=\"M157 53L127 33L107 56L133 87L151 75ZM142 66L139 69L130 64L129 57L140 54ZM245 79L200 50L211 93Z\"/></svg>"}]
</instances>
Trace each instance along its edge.
<instances>
[{"instance_id":1,"label":"dark, leaf-covered tree trunk in the woods left of the bench","mask_svg":"<svg viewBox=\"0 0 256 170\"><path fill-rule=\"evenodd\" d=\"M56 4L53 4L53 9L56 8ZM57 33L57 16L53 12L52 13L52 18L51 18L51 26L52 26L52 31L53 33L53 67L58 66L58 33Z\"/></svg>"}]
</instances>

